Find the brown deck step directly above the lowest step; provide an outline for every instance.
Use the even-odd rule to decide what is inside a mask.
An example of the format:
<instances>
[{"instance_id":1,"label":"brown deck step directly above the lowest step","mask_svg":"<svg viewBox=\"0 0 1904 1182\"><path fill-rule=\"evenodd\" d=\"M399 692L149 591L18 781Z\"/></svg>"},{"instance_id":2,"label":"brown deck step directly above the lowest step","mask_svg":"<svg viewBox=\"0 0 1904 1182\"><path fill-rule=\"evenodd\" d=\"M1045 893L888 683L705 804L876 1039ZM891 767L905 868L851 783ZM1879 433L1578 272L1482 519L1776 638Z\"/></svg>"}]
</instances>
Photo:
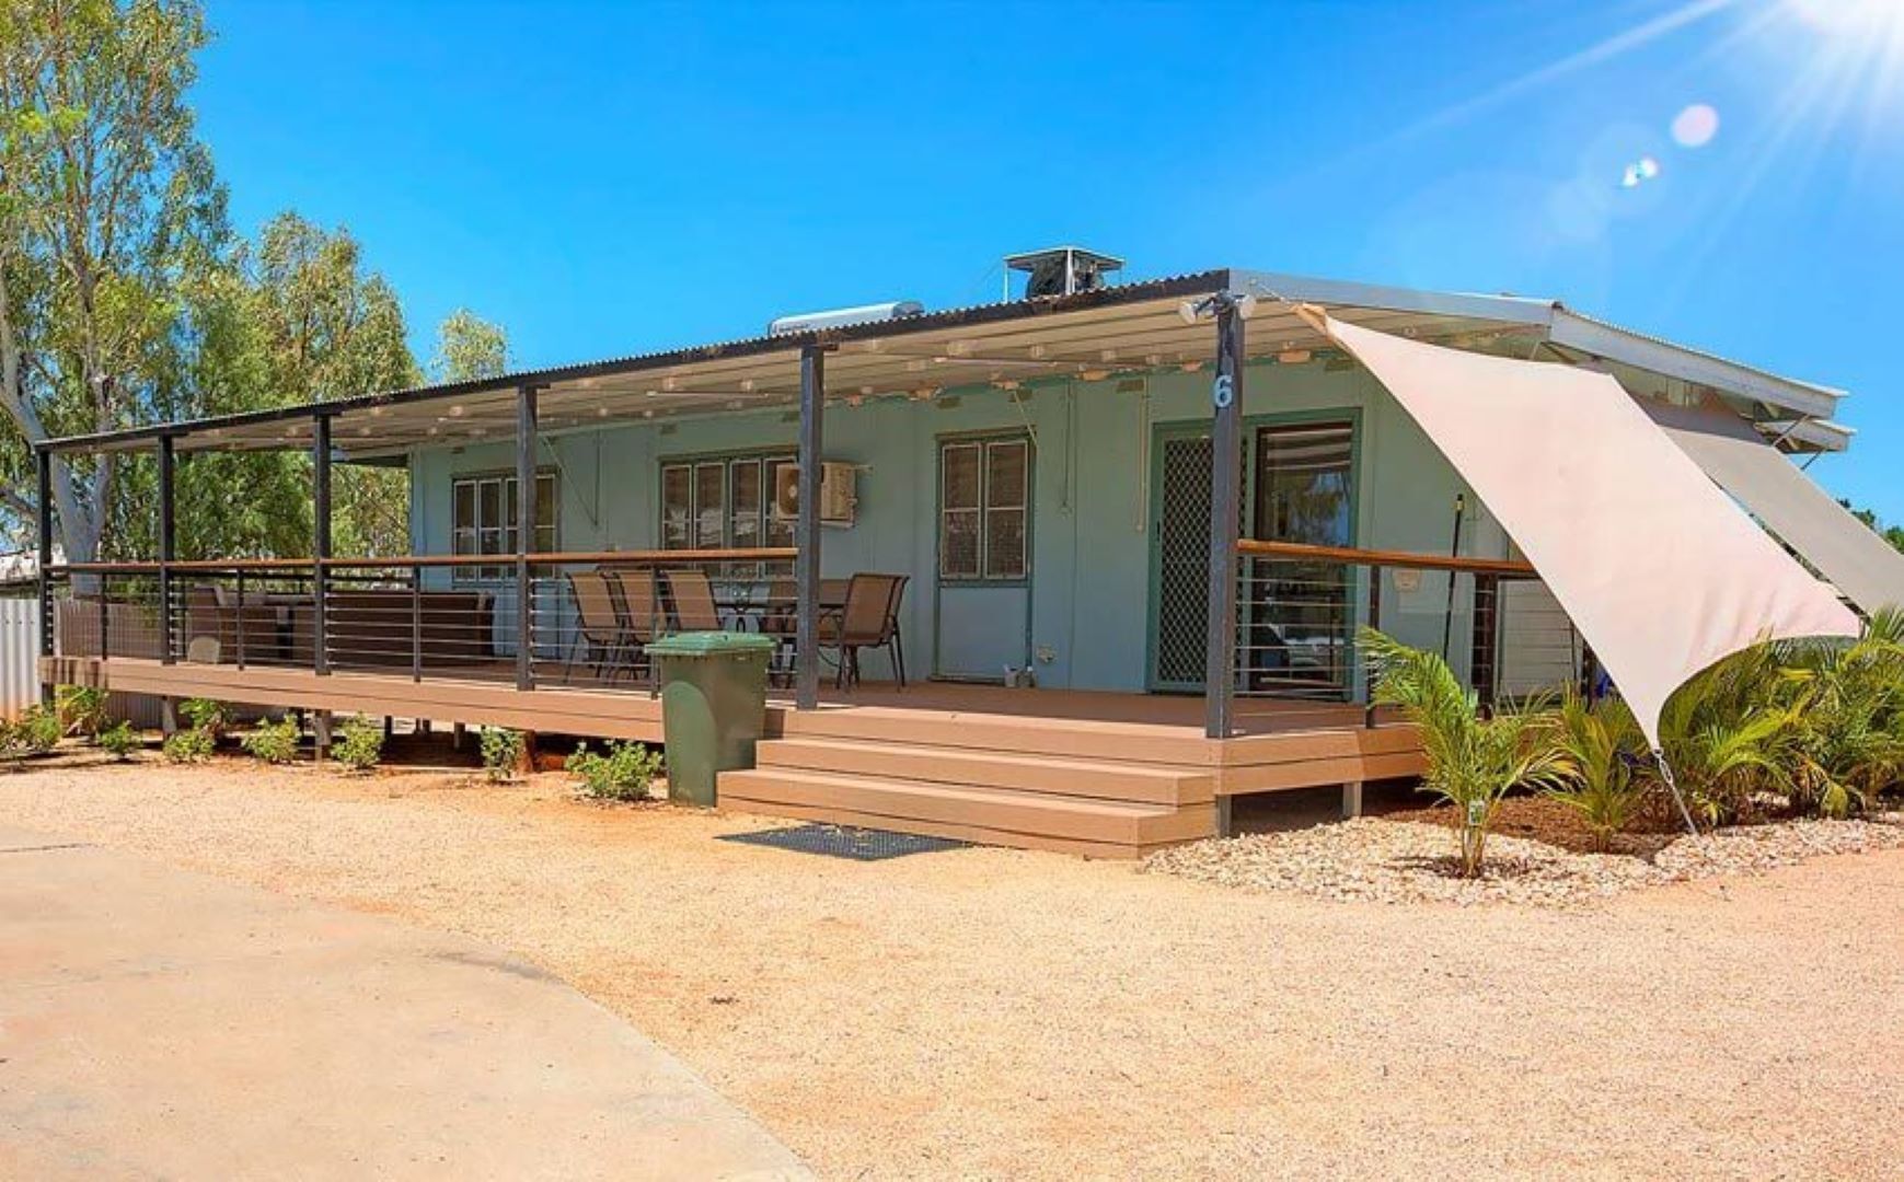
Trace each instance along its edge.
<instances>
[{"instance_id":1,"label":"brown deck step directly above the lowest step","mask_svg":"<svg viewBox=\"0 0 1904 1182\"><path fill-rule=\"evenodd\" d=\"M1013 788L1091 799L1190 805L1215 798L1215 777L1209 773L1106 759L855 739L775 739L762 742L756 758L762 767L773 769Z\"/></svg>"}]
</instances>

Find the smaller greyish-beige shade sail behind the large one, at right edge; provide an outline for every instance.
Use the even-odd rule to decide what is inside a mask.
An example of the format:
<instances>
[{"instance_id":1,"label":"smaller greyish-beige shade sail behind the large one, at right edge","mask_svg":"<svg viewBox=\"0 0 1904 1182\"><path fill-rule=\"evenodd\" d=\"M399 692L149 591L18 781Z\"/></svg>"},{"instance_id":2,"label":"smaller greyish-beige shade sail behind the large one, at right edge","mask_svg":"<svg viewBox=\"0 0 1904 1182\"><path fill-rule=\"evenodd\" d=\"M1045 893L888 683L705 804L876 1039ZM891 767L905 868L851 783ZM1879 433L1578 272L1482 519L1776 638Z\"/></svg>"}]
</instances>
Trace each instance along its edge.
<instances>
[{"instance_id":1,"label":"smaller greyish-beige shade sail behind the large one, at right edge","mask_svg":"<svg viewBox=\"0 0 1904 1182\"><path fill-rule=\"evenodd\" d=\"M1723 409L1645 404L1693 463L1805 556L1847 600L1872 613L1904 605L1904 554Z\"/></svg>"}]
</instances>

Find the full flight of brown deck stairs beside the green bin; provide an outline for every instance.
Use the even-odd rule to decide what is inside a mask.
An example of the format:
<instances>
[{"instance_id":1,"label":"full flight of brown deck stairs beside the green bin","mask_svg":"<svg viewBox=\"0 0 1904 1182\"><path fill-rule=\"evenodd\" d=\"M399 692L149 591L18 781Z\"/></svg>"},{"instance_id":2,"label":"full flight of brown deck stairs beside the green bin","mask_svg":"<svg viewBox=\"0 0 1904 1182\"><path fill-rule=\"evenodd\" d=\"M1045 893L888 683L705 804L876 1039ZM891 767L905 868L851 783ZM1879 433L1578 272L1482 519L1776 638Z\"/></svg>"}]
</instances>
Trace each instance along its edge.
<instances>
[{"instance_id":1,"label":"full flight of brown deck stairs beside the green bin","mask_svg":"<svg viewBox=\"0 0 1904 1182\"><path fill-rule=\"evenodd\" d=\"M720 778L739 813L1135 858L1215 832L1207 767L838 735L771 739Z\"/></svg>"}]
</instances>

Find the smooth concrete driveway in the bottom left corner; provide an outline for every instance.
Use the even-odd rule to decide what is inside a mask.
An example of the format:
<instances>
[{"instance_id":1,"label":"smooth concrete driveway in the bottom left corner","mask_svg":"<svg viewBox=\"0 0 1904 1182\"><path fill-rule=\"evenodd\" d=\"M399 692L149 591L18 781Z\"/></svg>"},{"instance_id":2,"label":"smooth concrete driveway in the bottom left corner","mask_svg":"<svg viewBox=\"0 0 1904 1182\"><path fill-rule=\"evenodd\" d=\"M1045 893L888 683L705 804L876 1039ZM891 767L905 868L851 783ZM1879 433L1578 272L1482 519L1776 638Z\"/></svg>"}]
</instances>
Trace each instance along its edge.
<instances>
[{"instance_id":1,"label":"smooth concrete driveway in the bottom left corner","mask_svg":"<svg viewBox=\"0 0 1904 1182\"><path fill-rule=\"evenodd\" d=\"M0 1176L807 1171L493 948L0 828Z\"/></svg>"}]
</instances>

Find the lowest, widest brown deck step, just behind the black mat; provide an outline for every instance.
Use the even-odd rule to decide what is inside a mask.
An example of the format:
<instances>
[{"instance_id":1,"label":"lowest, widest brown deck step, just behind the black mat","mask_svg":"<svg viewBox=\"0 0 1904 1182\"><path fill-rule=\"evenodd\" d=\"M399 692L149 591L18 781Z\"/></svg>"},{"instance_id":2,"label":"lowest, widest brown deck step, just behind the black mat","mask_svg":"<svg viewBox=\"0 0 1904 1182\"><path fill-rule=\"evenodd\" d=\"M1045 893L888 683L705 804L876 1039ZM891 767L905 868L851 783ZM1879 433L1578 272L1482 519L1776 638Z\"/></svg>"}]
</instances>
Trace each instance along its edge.
<instances>
[{"instance_id":1,"label":"lowest, widest brown deck step, just behind the black mat","mask_svg":"<svg viewBox=\"0 0 1904 1182\"><path fill-rule=\"evenodd\" d=\"M788 767L722 773L720 805L737 813L1123 858L1207 837L1217 817L1211 803L1085 799Z\"/></svg>"}]
</instances>

